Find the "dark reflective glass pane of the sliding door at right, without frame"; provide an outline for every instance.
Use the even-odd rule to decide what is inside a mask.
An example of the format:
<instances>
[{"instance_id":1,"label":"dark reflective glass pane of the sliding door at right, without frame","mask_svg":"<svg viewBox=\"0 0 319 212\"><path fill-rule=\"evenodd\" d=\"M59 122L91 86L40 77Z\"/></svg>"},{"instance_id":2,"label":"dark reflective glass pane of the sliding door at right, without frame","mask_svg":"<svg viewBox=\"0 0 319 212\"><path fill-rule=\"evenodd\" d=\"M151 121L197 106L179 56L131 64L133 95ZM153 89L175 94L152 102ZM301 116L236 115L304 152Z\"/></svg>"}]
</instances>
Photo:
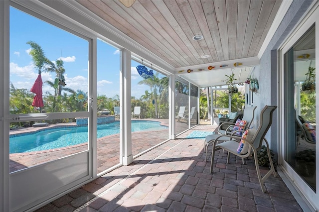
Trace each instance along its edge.
<instances>
[{"instance_id":1,"label":"dark reflective glass pane of the sliding door at right, without frame","mask_svg":"<svg viewBox=\"0 0 319 212\"><path fill-rule=\"evenodd\" d=\"M316 192L315 30L313 25L285 54L285 161Z\"/></svg>"}]
</instances>

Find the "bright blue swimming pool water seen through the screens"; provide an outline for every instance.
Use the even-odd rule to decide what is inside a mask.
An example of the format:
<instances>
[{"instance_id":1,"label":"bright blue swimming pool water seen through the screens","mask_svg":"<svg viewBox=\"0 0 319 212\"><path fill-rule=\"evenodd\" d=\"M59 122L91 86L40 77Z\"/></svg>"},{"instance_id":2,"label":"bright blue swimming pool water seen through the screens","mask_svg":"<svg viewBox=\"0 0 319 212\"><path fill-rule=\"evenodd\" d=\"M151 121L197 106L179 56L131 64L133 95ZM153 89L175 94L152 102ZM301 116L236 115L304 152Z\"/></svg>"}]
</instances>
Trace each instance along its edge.
<instances>
[{"instance_id":1,"label":"bright blue swimming pool water seen through the screens","mask_svg":"<svg viewBox=\"0 0 319 212\"><path fill-rule=\"evenodd\" d=\"M132 132L167 129L158 121L132 121ZM97 137L119 134L120 122L101 124L97 127ZM39 130L35 133L21 133L10 136L10 153L33 152L55 149L88 141L88 127L61 127Z\"/></svg>"}]
</instances>

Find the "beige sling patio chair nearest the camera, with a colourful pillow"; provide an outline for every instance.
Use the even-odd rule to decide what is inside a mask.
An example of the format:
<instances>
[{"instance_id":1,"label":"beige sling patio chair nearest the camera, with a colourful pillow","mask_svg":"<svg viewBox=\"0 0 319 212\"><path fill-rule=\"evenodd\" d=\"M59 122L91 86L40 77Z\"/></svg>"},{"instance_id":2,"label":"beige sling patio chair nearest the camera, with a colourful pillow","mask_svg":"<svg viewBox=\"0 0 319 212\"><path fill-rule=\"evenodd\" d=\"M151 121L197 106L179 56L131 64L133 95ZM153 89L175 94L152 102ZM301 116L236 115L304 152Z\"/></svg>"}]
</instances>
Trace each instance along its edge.
<instances>
[{"instance_id":1,"label":"beige sling patio chair nearest the camera, with a colourful pillow","mask_svg":"<svg viewBox=\"0 0 319 212\"><path fill-rule=\"evenodd\" d=\"M260 114L259 127L257 129L247 129L244 132L242 137L231 136L231 135L218 136L213 142L213 150L212 150L211 162L210 162L210 173L213 172L215 152L219 149L223 149L228 152L227 163L229 163L229 153L232 153L244 159L249 157L251 153L253 152L258 180L261 186L261 190L265 193L266 188L264 186L264 182L267 180L267 178L271 174L274 174L274 176L276 177L276 172L275 172L275 168L271 158L269 144L265 138L265 135L272 124L273 112L276 108L277 106L265 106ZM225 138L227 139L227 141L224 141ZM223 140L224 142L218 144L218 140L220 139ZM267 154L268 154L269 163L271 166L271 169L264 175L264 177L261 176L259 165L258 165L258 157L257 157L257 150L259 150L262 147L263 141L266 143L266 146L267 146Z\"/></svg>"}]
</instances>

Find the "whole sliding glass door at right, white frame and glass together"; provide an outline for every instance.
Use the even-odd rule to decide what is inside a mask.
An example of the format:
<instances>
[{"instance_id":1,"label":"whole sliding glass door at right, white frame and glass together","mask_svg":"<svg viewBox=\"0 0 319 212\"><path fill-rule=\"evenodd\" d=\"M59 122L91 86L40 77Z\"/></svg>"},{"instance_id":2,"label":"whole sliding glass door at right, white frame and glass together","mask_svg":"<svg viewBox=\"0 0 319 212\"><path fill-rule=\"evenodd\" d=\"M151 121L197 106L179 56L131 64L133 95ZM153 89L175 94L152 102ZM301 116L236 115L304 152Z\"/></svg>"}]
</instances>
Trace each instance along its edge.
<instances>
[{"instance_id":1,"label":"whole sliding glass door at right, white frame and glass together","mask_svg":"<svg viewBox=\"0 0 319 212\"><path fill-rule=\"evenodd\" d=\"M318 204L318 9L295 30L282 48L281 160L301 194Z\"/></svg>"}]
</instances>

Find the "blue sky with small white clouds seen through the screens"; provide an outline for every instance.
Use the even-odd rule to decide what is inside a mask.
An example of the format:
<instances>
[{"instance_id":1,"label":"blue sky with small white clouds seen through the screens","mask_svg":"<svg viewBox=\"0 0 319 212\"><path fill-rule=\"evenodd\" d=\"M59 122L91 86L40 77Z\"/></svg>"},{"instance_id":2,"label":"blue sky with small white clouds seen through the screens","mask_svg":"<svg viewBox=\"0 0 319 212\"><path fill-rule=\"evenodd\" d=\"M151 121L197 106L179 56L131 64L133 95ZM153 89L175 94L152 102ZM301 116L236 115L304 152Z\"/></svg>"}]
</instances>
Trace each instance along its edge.
<instances>
[{"instance_id":1,"label":"blue sky with small white clouds seen through the screens","mask_svg":"<svg viewBox=\"0 0 319 212\"><path fill-rule=\"evenodd\" d=\"M66 88L88 91L88 41L11 7L9 80L15 88L30 90L38 75L28 54L31 49L28 41L40 45L51 61L62 58ZM98 41L97 51L97 92L112 98L120 91L120 52L102 41ZM149 86L138 85L143 80L136 70L138 65L141 64L132 60L132 96L136 98L150 90ZM44 82L54 82L55 73L43 72L41 76L43 94L53 95L53 88Z\"/></svg>"}]
</instances>

